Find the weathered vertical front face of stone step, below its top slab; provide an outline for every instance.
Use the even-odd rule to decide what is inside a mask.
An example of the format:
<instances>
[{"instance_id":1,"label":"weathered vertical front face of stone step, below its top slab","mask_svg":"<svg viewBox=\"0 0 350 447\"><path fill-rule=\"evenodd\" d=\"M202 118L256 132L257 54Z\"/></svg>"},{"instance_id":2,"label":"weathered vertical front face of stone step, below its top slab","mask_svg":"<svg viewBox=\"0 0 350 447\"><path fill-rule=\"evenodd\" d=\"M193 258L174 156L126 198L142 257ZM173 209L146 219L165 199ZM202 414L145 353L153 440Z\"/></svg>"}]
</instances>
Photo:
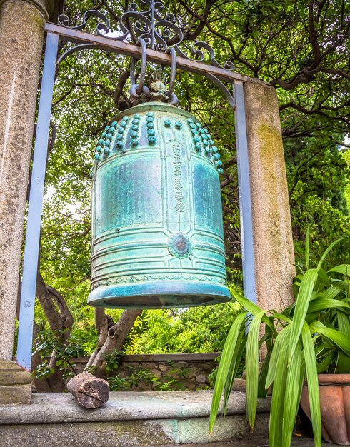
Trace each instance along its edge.
<instances>
[{"instance_id":1,"label":"weathered vertical front face of stone step, below its top slab","mask_svg":"<svg viewBox=\"0 0 350 447\"><path fill-rule=\"evenodd\" d=\"M49 423L0 426L1 447L145 447L186 443L210 443L252 436L246 417L219 418L213 433L209 419L159 419L156 421L114 421L85 423ZM266 436L269 415L258 415L256 433Z\"/></svg>"}]
</instances>

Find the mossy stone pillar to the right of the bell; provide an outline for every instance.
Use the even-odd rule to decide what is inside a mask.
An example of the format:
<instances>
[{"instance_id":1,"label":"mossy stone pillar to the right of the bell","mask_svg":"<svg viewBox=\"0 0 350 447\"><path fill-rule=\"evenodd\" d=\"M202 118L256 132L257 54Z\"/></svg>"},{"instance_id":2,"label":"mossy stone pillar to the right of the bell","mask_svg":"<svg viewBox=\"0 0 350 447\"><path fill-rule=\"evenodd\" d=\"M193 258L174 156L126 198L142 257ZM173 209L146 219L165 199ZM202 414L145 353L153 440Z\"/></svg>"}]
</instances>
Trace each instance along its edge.
<instances>
[{"instance_id":1,"label":"mossy stone pillar to the right of the bell","mask_svg":"<svg viewBox=\"0 0 350 447\"><path fill-rule=\"evenodd\" d=\"M244 83L256 303L280 311L293 302L295 275L286 166L276 90Z\"/></svg>"}]
</instances>

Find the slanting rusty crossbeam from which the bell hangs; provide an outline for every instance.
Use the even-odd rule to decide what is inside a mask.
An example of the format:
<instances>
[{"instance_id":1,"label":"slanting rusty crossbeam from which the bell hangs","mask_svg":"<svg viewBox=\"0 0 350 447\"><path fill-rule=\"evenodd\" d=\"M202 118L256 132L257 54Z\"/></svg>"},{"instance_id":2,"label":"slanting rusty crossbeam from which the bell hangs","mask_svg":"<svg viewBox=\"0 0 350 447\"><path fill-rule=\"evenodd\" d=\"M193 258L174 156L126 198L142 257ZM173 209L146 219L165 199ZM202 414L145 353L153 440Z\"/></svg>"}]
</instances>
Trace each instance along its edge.
<instances>
[{"instance_id":1,"label":"slanting rusty crossbeam from which the bell hangs","mask_svg":"<svg viewBox=\"0 0 350 447\"><path fill-rule=\"evenodd\" d=\"M67 28L66 26L51 23L46 23L45 29L50 33L59 34L61 40L64 41L74 42L75 44L93 44L96 49L111 51L113 53L122 54L123 56L141 59L141 47L134 44L116 41L114 39L98 36L96 34L84 33L83 31L79 31L77 29L71 29ZM147 60L154 62L155 64L171 66L171 55L163 53L162 51L147 49ZM216 76L216 78L220 79L221 81L231 83L234 81L249 81L252 79L249 76L234 73L234 71L204 64L204 62L192 61L191 59L185 59L184 57L178 57L176 59L176 66L184 71L191 71L192 73L198 73L204 76L206 73L209 73Z\"/></svg>"}]
</instances>

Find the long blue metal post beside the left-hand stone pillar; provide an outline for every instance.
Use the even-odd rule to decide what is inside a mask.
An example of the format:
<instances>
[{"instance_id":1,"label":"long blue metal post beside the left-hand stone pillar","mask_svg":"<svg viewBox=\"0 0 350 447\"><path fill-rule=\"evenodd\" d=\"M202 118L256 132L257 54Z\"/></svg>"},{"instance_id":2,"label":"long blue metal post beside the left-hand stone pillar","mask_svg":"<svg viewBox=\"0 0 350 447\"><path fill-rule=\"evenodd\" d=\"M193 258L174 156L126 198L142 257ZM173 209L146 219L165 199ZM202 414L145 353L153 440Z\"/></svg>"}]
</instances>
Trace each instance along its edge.
<instances>
[{"instance_id":1,"label":"long blue metal post beside the left-hand stone pillar","mask_svg":"<svg viewBox=\"0 0 350 447\"><path fill-rule=\"evenodd\" d=\"M47 34L38 124L36 126L34 160L31 171L31 190L26 226L21 307L19 312L19 337L17 343L17 363L27 371L31 369L31 345L33 338L36 275L39 258L41 211L58 44L58 35Z\"/></svg>"}]
</instances>

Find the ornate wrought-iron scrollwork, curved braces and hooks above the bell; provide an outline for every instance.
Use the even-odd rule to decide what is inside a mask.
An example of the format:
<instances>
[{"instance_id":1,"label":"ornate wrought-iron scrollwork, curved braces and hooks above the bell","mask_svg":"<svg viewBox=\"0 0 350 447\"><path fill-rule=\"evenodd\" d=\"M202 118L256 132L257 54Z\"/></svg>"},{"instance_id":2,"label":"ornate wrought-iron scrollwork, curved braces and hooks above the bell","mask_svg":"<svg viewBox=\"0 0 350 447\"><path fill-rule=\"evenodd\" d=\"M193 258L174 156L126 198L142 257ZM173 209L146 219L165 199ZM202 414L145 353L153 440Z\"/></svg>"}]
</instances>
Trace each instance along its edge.
<instances>
[{"instance_id":1,"label":"ornate wrought-iron scrollwork, curved braces and hooks above the bell","mask_svg":"<svg viewBox=\"0 0 350 447\"><path fill-rule=\"evenodd\" d=\"M224 66L221 66L215 59L214 49L206 42L201 41L194 42L194 44L192 44L189 51L191 56L194 57L189 57L181 48L181 44L184 41L184 34L179 26L176 25L176 18L174 14L167 13L164 18L161 16L163 9L164 4L161 3L161 1L141 0L141 9L139 9L139 6L136 3L131 3L129 11L124 12L119 19L119 30L114 30L111 28L110 21L105 14L91 9L86 11L81 24L71 26L71 29L82 30L86 27L86 24L91 17L96 17L97 19L101 20L96 26L96 34L116 41L131 41L141 46L141 72L138 84L136 84L134 75L136 61L134 58L131 58L130 94L134 98L138 97L141 93L149 97L149 89L144 86L147 56L146 49L154 49L156 51L170 53L171 75L168 96L171 104L176 104L177 98L173 93L176 71L176 55L185 59L203 62L206 59L204 54L204 51L206 51L209 53L209 64L212 66L216 66L221 69L233 70L234 64L231 61L226 61ZM69 27L69 18L64 14L59 16L58 21L59 24ZM114 36L116 33L118 35ZM62 54L57 61L57 64L60 64L61 61L66 59L66 57L70 54L86 49L94 49L94 44L80 44L72 46L70 49L65 51L64 54ZM235 109L236 104L234 96L231 94L229 89L227 89L226 86L218 78L216 78L216 76L208 74L206 77L213 81L214 84L221 89L231 107Z\"/></svg>"}]
</instances>

